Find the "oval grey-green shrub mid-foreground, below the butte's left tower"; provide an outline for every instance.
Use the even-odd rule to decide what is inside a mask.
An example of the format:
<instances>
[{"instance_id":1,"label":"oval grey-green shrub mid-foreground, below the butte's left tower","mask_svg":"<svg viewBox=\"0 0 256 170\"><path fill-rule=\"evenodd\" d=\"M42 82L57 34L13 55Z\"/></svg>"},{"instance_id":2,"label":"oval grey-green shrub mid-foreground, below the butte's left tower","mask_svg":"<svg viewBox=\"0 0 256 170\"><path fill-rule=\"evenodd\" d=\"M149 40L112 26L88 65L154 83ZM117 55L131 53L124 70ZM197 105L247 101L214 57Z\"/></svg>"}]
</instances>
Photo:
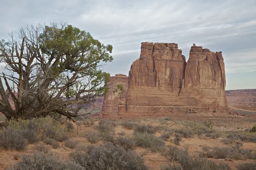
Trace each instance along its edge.
<instances>
[{"instance_id":1,"label":"oval grey-green shrub mid-foreground, below the butte's left tower","mask_svg":"<svg viewBox=\"0 0 256 170\"><path fill-rule=\"evenodd\" d=\"M151 133L135 133L134 140L137 145L147 148L161 149L165 146L165 142Z\"/></svg>"}]
</instances>

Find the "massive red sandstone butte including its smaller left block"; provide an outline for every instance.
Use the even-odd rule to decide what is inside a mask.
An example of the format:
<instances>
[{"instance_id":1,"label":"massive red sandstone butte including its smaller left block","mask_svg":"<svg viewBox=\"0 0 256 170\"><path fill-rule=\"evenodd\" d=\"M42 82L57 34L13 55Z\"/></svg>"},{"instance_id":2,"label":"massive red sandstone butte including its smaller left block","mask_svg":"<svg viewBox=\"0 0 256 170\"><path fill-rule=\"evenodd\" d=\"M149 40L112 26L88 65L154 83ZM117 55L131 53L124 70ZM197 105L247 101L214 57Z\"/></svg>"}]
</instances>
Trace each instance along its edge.
<instances>
[{"instance_id":1,"label":"massive red sandstone butte including its smaller left block","mask_svg":"<svg viewBox=\"0 0 256 170\"><path fill-rule=\"evenodd\" d=\"M142 42L140 58L131 65L129 76L111 77L110 86L123 85L124 92L118 95L110 87L102 111L228 111L221 53L193 44L186 62L175 43Z\"/></svg>"}]
</instances>

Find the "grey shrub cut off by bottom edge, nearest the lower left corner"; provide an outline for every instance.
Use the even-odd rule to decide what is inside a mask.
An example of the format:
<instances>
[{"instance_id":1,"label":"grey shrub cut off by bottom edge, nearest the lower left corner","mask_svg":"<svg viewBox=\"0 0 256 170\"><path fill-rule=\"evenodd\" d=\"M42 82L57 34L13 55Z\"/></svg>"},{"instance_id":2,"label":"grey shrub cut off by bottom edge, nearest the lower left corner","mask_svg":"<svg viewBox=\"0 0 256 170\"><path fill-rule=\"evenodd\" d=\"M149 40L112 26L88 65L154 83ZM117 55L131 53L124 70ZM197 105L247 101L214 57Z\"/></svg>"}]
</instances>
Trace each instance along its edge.
<instances>
[{"instance_id":1,"label":"grey shrub cut off by bottom edge, nearest the lower left corner","mask_svg":"<svg viewBox=\"0 0 256 170\"><path fill-rule=\"evenodd\" d=\"M84 168L74 161L63 161L52 152L44 154L35 151L32 155L22 155L21 160L9 170L84 170Z\"/></svg>"}]
</instances>

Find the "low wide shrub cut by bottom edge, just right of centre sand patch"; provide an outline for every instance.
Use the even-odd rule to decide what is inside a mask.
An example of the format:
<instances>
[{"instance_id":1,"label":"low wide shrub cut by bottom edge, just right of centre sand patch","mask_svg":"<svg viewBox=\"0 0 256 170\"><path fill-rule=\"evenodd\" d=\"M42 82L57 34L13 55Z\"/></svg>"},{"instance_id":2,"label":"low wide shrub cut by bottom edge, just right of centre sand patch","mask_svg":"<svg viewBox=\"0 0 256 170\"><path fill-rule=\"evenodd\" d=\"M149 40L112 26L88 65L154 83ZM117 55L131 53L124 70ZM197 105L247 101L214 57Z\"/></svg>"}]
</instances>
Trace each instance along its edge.
<instances>
[{"instance_id":1,"label":"low wide shrub cut by bottom edge, just right of centre sand patch","mask_svg":"<svg viewBox=\"0 0 256 170\"><path fill-rule=\"evenodd\" d=\"M205 158L189 157L187 160L181 160L180 164L169 164L162 167L161 170L231 170L231 168L225 163L216 164Z\"/></svg>"}]
</instances>

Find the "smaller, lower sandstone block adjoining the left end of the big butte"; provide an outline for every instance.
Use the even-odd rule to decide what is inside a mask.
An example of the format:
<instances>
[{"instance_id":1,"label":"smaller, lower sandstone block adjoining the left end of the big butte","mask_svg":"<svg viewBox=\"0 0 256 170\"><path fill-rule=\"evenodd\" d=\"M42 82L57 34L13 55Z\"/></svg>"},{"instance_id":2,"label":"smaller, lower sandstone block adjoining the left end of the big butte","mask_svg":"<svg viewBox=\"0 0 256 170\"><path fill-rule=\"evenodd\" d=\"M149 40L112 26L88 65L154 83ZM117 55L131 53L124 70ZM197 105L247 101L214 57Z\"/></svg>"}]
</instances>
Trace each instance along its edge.
<instances>
[{"instance_id":1,"label":"smaller, lower sandstone block adjoining the left end of the big butte","mask_svg":"<svg viewBox=\"0 0 256 170\"><path fill-rule=\"evenodd\" d=\"M117 88L116 85L122 85L124 88L123 93L120 95L119 91L113 93ZM125 111L125 99L127 97L128 90L128 77L124 74L116 74L110 78L108 93L104 96L104 102L102 111L107 113L116 113L119 111Z\"/></svg>"}]
</instances>

